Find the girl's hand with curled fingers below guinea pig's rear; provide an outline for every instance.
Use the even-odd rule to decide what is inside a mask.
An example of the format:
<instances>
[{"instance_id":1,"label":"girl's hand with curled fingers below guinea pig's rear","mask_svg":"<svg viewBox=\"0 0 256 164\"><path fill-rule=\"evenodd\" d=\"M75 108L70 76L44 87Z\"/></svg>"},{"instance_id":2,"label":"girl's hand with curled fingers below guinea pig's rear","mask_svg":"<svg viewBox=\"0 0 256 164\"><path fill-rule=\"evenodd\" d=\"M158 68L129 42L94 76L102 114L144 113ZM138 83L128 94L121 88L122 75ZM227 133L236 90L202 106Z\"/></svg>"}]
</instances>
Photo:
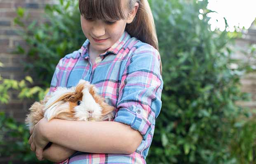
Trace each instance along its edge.
<instances>
[{"instance_id":1,"label":"girl's hand with curled fingers below guinea pig's rear","mask_svg":"<svg viewBox=\"0 0 256 164\"><path fill-rule=\"evenodd\" d=\"M32 151L35 151L35 155L38 158L38 160L42 161L43 156L42 152L45 146L48 144L48 140L44 137L44 134L42 133L42 130L44 128L44 124L47 123L46 118L42 118L40 121L38 121L37 124L31 129L30 131L30 138L28 140L28 144L31 144L30 149Z\"/></svg>"}]
</instances>

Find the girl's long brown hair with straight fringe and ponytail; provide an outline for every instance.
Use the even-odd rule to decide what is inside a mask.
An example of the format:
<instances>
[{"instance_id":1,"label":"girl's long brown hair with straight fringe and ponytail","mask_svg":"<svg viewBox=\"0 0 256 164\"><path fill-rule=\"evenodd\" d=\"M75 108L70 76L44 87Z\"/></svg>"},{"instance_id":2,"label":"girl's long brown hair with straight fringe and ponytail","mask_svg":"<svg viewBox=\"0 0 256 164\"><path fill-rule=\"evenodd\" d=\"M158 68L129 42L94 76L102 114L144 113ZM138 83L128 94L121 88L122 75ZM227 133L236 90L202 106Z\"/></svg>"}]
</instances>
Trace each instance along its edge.
<instances>
[{"instance_id":1,"label":"girl's long brown hair with straight fringe and ponytail","mask_svg":"<svg viewBox=\"0 0 256 164\"><path fill-rule=\"evenodd\" d=\"M87 18L117 21L126 18L122 1L124 0L79 0L79 10L81 15ZM148 0L126 0L126 2L129 11L132 11L136 2L139 4L139 8L132 23L126 25L125 31L130 36L159 50L155 23ZM160 72L162 74L161 61Z\"/></svg>"}]
</instances>

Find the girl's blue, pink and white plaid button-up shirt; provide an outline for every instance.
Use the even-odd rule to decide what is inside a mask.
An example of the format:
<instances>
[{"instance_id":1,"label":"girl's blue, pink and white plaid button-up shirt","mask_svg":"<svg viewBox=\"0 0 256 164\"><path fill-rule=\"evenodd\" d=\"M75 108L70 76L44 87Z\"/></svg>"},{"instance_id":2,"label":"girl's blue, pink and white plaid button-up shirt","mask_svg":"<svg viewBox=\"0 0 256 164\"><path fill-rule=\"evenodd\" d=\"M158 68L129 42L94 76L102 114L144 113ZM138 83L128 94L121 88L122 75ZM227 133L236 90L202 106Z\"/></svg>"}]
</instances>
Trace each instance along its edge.
<instances>
[{"instance_id":1,"label":"girl's blue, pink and white plaid button-up shirt","mask_svg":"<svg viewBox=\"0 0 256 164\"><path fill-rule=\"evenodd\" d=\"M131 38L127 32L105 53L96 57L93 64L89 61L88 47L87 39L80 50L60 59L49 93L58 86L73 87L80 79L89 81L99 89L99 94L108 104L116 107L114 121L139 130L143 140L129 155L77 152L69 158L69 163L145 164L155 118L162 105L159 52L149 44Z\"/></svg>"}]
</instances>

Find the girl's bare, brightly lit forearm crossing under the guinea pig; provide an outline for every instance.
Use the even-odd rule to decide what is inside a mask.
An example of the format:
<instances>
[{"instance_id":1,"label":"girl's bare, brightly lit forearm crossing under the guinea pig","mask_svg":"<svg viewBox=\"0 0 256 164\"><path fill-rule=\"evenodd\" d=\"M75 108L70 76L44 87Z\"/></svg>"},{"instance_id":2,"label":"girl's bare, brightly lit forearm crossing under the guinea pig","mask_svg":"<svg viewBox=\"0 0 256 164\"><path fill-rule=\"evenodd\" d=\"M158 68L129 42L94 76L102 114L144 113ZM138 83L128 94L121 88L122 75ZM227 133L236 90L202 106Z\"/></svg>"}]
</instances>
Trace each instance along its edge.
<instances>
[{"instance_id":1,"label":"girl's bare, brightly lit forearm crossing under the guinea pig","mask_svg":"<svg viewBox=\"0 0 256 164\"><path fill-rule=\"evenodd\" d=\"M114 121L67 121L54 118L40 123L42 135L46 139L81 152L131 154L142 141L139 131Z\"/></svg>"}]
</instances>

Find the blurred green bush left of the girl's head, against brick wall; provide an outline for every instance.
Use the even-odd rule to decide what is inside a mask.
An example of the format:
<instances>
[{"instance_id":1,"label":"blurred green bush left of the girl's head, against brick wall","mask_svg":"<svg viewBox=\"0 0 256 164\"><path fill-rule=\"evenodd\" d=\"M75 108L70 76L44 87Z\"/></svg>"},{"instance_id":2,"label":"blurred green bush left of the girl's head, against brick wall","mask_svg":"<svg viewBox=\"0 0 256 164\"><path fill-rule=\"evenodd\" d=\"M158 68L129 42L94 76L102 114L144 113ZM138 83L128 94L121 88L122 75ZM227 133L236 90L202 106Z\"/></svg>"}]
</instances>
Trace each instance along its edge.
<instances>
[{"instance_id":1,"label":"blurred green bush left of the girl's head, against brick wall","mask_svg":"<svg viewBox=\"0 0 256 164\"><path fill-rule=\"evenodd\" d=\"M30 62L26 63L28 71L35 71L45 87L49 87L55 67L59 59L66 54L78 50L85 41L80 25L80 12L77 0L59 0L60 5L46 5L45 18L40 23L30 21L26 10L19 8L14 22L23 28L19 34L28 45L28 50L18 46L18 52L27 55Z\"/></svg>"}]
</instances>

